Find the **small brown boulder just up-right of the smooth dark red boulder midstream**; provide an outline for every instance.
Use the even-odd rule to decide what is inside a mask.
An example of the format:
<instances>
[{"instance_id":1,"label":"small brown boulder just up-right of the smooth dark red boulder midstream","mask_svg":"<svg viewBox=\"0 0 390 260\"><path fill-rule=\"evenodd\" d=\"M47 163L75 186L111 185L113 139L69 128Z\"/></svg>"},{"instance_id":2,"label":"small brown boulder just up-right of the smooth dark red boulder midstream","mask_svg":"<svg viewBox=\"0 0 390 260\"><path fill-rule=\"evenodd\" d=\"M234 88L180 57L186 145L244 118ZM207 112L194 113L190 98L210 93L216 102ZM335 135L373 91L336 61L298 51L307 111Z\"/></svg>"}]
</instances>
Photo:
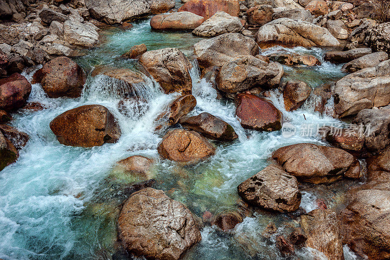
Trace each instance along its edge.
<instances>
[{"instance_id":1,"label":"small brown boulder just up-right of the smooth dark red boulder midstream","mask_svg":"<svg viewBox=\"0 0 390 260\"><path fill-rule=\"evenodd\" d=\"M283 90L286 111L298 109L310 96L312 88L306 82L290 80Z\"/></svg>"}]
</instances>

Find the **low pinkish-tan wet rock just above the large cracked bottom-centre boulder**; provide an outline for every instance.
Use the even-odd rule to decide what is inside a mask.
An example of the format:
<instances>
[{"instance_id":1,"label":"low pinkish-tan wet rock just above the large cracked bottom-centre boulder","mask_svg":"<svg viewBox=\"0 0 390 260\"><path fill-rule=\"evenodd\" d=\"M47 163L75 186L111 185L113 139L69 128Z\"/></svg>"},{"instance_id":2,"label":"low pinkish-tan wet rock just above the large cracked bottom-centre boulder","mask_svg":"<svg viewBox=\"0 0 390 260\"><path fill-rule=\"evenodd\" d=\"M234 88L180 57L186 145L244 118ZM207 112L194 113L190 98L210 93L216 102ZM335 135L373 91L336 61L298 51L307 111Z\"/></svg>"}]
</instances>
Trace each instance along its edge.
<instances>
[{"instance_id":1,"label":"low pinkish-tan wet rock just above the large cracked bottom-centre boulder","mask_svg":"<svg viewBox=\"0 0 390 260\"><path fill-rule=\"evenodd\" d=\"M147 157L134 155L117 161L117 164L124 167L124 169L128 172L140 176L143 179L150 180L152 179L151 167L153 162L154 161L152 159Z\"/></svg>"}]
</instances>

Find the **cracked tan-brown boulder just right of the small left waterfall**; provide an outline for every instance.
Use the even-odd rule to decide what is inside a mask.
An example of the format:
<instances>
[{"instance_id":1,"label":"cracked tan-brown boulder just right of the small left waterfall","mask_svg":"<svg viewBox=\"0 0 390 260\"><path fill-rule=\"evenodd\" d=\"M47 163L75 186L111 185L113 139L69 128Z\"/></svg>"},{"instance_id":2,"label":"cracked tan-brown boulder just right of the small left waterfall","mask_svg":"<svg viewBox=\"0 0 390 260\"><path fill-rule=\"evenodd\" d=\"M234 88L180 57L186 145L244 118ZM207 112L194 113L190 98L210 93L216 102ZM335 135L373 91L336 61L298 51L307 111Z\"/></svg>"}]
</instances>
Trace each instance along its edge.
<instances>
[{"instance_id":1,"label":"cracked tan-brown boulder just right of the small left waterfall","mask_svg":"<svg viewBox=\"0 0 390 260\"><path fill-rule=\"evenodd\" d=\"M177 48L147 51L139 57L145 69L160 84L165 93L191 94L191 62Z\"/></svg>"}]
</instances>

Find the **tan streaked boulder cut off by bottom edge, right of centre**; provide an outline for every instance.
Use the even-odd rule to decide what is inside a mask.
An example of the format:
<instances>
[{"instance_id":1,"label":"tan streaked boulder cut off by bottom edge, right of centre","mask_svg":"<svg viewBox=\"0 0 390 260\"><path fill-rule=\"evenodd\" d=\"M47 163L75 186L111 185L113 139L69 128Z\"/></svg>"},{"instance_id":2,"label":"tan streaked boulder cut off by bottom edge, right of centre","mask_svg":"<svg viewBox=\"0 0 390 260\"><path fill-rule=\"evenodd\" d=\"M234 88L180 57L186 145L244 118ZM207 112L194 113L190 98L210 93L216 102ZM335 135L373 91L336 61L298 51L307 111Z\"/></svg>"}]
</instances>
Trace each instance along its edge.
<instances>
[{"instance_id":1,"label":"tan streaked boulder cut off by bottom edge, right of centre","mask_svg":"<svg viewBox=\"0 0 390 260\"><path fill-rule=\"evenodd\" d=\"M336 212L315 209L301 216L300 225L307 237L303 245L322 252L328 260L344 260Z\"/></svg>"}]
</instances>

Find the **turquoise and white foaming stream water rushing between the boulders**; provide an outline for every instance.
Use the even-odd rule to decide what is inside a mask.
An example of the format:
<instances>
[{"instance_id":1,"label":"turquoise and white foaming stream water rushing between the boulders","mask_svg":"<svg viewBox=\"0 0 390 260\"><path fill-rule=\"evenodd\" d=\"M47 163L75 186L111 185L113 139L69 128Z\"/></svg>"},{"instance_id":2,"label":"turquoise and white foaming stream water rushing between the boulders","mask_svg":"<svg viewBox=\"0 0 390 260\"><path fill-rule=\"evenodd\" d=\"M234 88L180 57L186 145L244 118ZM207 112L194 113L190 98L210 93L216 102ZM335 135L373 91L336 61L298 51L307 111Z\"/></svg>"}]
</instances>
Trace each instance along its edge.
<instances>
[{"instance_id":1,"label":"turquoise and white foaming stream water rushing between the boulders","mask_svg":"<svg viewBox=\"0 0 390 260\"><path fill-rule=\"evenodd\" d=\"M137 70L135 60L121 59L131 46L145 43L148 50L177 47L186 55L192 45L201 40L189 32L154 32L149 20L139 20L134 28L122 30L109 28L102 32L104 43L99 48L86 51L76 58L86 72L98 65L110 65ZM263 50L277 51L280 47ZM291 49L288 49L291 50ZM322 59L326 50L320 48L294 48L292 51L308 53L321 60L321 66L287 67L286 79L305 80L312 88L342 78L341 65ZM37 70L38 68L35 68ZM24 75L31 79L35 70ZM216 154L210 160L195 166L178 166L159 158L156 147L162 135L155 133L156 117L177 94L163 94L156 83L146 80L139 85L136 95L147 101L144 114L124 116L118 112L119 97L110 88L115 80L101 76L88 76L81 98L50 99L39 84L33 85L29 101L42 103L41 111L20 110L13 115L11 124L28 133L30 141L20 151L19 160L0 172L0 258L4 260L32 259L122 259L116 241L118 206L125 199L123 188L139 180L128 176L116 167L116 161L132 155L144 155L156 160L155 187L162 189L174 200L183 202L196 216L203 212L213 214L235 210L239 207L236 187L242 181L262 170L270 156L279 147L299 143L323 143L318 137L296 135L286 138L281 131L257 132L244 130L235 118L231 100L216 100L216 92L205 80L199 80L199 69L194 61L191 71L193 95L197 106L190 115L209 112L230 123L239 139L232 143L215 143ZM330 116L314 112L318 99L312 97L294 112L286 112L278 90L270 98L283 112L284 121L303 131L305 125L340 123ZM59 114L84 104L106 106L117 118L122 136L117 143L93 148L71 147L60 144L49 128L49 123ZM326 104L331 111L332 104ZM343 203L343 191L351 181L334 185L303 185L301 206L315 209L320 198L329 207ZM265 227L274 222L277 234L286 234L296 223L284 214L259 211L247 217L230 232L207 226L202 229L202 241L183 257L199 259L280 259L274 247L274 236L261 236ZM346 259L356 257L347 247ZM321 259L323 256L310 248L297 252L300 259Z\"/></svg>"}]
</instances>

